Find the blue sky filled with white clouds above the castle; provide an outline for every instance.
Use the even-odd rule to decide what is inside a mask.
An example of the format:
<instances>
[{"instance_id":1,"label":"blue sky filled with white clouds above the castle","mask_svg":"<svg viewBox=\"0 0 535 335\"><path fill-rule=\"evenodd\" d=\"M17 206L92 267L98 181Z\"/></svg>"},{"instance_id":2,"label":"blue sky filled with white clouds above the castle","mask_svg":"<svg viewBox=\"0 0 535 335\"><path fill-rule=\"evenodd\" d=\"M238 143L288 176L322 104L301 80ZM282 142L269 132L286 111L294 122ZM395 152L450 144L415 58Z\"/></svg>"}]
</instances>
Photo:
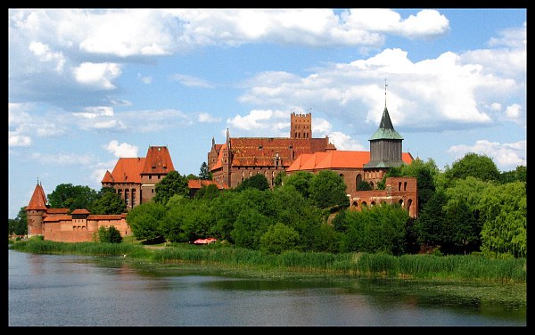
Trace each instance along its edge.
<instances>
[{"instance_id":1,"label":"blue sky filled with white clouds above the castle","mask_svg":"<svg viewBox=\"0 0 535 335\"><path fill-rule=\"evenodd\" d=\"M9 218L152 145L199 175L226 129L289 137L292 112L369 151L386 104L441 170L526 166L526 38L526 8L9 9Z\"/></svg>"}]
</instances>

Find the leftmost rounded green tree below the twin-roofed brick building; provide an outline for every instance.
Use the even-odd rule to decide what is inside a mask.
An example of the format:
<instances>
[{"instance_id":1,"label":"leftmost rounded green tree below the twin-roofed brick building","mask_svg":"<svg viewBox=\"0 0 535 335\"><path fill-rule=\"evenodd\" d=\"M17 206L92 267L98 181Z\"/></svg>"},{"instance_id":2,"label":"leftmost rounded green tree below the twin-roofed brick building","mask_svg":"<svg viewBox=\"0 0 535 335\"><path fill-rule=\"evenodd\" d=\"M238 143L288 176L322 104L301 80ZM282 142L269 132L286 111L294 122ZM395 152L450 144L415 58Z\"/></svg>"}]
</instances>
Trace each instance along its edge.
<instances>
[{"instance_id":1,"label":"leftmost rounded green tree below the twin-roofed brick building","mask_svg":"<svg viewBox=\"0 0 535 335\"><path fill-rule=\"evenodd\" d=\"M145 202L130 209L127 223L137 240L157 241L163 237L161 224L167 208L159 202Z\"/></svg>"}]
</instances>

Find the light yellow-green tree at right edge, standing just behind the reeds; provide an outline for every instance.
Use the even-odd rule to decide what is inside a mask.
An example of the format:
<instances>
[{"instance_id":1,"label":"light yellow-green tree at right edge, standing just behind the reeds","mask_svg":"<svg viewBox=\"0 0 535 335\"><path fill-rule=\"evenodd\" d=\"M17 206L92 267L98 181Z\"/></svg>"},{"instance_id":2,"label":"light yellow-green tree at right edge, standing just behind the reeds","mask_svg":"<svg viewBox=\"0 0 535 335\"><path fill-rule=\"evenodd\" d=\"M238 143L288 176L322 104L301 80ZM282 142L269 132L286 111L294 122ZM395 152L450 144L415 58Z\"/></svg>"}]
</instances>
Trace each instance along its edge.
<instances>
[{"instance_id":1,"label":"light yellow-green tree at right edge, standing just behind the reeds","mask_svg":"<svg viewBox=\"0 0 535 335\"><path fill-rule=\"evenodd\" d=\"M523 182L493 185L481 195L481 251L527 257L527 197Z\"/></svg>"}]
</instances>

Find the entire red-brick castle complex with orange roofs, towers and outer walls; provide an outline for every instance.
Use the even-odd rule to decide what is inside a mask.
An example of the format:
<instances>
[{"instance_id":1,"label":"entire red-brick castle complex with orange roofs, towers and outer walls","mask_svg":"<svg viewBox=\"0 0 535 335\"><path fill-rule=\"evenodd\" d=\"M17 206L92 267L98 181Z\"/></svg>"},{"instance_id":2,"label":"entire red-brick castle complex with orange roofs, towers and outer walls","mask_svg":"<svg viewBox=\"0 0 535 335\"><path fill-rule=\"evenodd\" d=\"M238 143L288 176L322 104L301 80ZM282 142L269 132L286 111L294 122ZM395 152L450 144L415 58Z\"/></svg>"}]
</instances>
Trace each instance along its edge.
<instances>
[{"instance_id":1,"label":"entire red-brick castle complex with orange roofs, towers and outer walls","mask_svg":"<svg viewBox=\"0 0 535 335\"><path fill-rule=\"evenodd\" d=\"M230 137L216 144L212 138L208 152L208 167L213 180L190 180L190 194L207 184L218 189L235 188L243 180L262 174L272 186L276 176L296 171L317 173L332 170L342 176L347 186L350 208L399 203L410 217L417 215L417 185L414 177L386 178L383 190L377 183L391 167L410 164L414 159L402 152L403 137L394 129L386 108L377 131L369 139L370 151L338 151L325 138L312 136L312 114L291 114L289 137ZM144 158L119 158L113 171L106 171L103 187L111 187L125 201L127 210L148 202L155 196L156 184L175 171L166 146L150 146ZM358 191L358 184L366 181L371 191ZM131 234L127 213L121 215L92 215L86 209L49 208L45 192L37 183L29 205L28 235L43 235L50 241L95 241L100 227L113 225L121 236Z\"/></svg>"}]
</instances>

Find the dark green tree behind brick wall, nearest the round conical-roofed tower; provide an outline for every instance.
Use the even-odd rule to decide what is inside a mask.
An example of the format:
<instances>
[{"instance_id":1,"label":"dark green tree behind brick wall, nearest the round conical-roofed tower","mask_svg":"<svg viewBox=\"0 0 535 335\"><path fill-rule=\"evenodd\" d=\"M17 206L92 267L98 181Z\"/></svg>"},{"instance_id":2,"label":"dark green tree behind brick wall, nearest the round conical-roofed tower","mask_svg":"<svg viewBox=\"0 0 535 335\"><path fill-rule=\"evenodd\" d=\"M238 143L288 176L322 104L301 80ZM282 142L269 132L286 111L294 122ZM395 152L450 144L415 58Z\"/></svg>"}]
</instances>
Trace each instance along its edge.
<instances>
[{"instance_id":1,"label":"dark green tree behind brick wall, nearest the round conical-roofed tower","mask_svg":"<svg viewBox=\"0 0 535 335\"><path fill-rule=\"evenodd\" d=\"M59 184L47 199L51 208L69 208L70 211L87 208L92 211L91 206L98 199L98 192L88 186Z\"/></svg>"}]
</instances>

